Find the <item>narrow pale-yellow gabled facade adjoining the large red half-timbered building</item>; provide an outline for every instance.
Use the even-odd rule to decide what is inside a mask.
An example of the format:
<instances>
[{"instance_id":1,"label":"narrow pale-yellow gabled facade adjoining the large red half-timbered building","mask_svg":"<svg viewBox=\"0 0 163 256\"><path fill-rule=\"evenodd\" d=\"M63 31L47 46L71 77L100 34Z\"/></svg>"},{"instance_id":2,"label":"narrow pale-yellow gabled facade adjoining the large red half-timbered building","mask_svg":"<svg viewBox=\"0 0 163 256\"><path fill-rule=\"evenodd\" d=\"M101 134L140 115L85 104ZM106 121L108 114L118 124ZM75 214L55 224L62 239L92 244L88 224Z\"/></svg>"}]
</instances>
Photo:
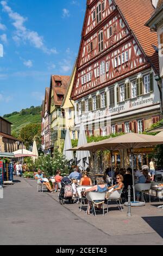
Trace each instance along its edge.
<instances>
[{"instance_id":1,"label":"narrow pale-yellow gabled facade adjoining the large red half-timbered building","mask_svg":"<svg viewBox=\"0 0 163 256\"><path fill-rule=\"evenodd\" d=\"M71 100L71 91L73 87L75 74L76 74L76 64L74 64L70 81L68 83L68 87L64 97L64 101L62 102L62 105L61 105L61 108L64 110L64 113L65 113L65 129L70 130L71 139L78 138L78 132L74 127L74 101Z\"/></svg>"}]
</instances>

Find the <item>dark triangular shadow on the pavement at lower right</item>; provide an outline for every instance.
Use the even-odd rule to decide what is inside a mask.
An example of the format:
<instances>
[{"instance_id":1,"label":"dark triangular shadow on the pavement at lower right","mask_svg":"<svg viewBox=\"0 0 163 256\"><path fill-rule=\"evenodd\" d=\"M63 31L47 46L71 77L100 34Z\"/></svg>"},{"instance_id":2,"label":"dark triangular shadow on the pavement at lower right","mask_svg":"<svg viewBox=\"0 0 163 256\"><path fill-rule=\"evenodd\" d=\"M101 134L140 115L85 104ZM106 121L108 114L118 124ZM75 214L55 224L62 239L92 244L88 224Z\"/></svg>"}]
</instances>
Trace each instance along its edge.
<instances>
[{"instance_id":1,"label":"dark triangular shadow on the pavement at lower right","mask_svg":"<svg viewBox=\"0 0 163 256\"><path fill-rule=\"evenodd\" d=\"M163 216L142 217L163 238Z\"/></svg>"}]
</instances>

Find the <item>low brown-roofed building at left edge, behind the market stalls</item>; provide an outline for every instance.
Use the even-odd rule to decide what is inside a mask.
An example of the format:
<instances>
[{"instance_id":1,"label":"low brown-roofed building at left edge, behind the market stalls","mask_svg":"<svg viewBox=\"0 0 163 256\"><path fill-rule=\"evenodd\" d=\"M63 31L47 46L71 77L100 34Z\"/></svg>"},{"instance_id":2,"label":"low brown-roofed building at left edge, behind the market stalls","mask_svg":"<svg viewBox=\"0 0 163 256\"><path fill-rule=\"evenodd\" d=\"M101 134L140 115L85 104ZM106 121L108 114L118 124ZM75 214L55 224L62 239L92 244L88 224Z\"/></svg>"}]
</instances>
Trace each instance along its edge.
<instances>
[{"instance_id":1,"label":"low brown-roofed building at left edge, behind the market stalls","mask_svg":"<svg viewBox=\"0 0 163 256\"><path fill-rule=\"evenodd\" d=\"M11 136L11 123L0 117L0 152L12 153L21 147L21 141Z\"/></svg>"}]
</instances>

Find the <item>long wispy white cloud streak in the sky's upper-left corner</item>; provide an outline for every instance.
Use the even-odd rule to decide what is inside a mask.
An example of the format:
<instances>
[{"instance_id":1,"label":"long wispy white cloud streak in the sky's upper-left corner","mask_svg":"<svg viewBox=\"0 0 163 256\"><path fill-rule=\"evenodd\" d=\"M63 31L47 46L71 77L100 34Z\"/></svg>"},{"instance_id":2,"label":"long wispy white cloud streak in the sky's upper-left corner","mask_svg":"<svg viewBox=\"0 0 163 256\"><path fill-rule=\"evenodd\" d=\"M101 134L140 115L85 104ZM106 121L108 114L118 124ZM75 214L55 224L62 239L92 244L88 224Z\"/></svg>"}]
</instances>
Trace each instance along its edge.
<instances>
[{"instance_id":1,"label":"long wispy white cloud streak in the sky's upper-left corner","mask_svg":"<svg viewBox=\"0 0 163 256\"><path fill-rule=\"evenodd\" d=\"M30 29L26 28L24 22L28 20L27 18L21 16L18 13L15 13L9 7L6 1L1 1L1 4L3 6L3 11L5 11L5 13L9 15L10 19L13 21L12 25L16 28L16 31L14 32L14 36L12 37L12 39L17 44L20 44L21 42L29 42L30 45L42 50L47 54L57 53L57 50L55 50L55 48L48 49L45 46L43 36L40 36L36 31L31 31Z\"/></svg>"}]
</instances>

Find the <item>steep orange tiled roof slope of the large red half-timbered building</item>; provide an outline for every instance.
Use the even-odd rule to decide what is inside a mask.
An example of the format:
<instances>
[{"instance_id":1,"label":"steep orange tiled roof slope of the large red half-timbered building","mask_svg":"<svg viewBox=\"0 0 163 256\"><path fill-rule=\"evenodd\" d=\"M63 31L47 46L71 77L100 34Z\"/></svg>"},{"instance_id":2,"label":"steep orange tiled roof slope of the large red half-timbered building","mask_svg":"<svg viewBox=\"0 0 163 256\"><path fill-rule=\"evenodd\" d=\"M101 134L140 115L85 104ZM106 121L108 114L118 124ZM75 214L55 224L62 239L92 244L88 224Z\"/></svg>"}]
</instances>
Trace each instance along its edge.
<instances>
[{"instance_id":1,"label":"steep orange tiled roof slope of the large red half-timbered building","mask_svg":"<svg viewBox=\"0 0 163 256\"><path fill-rule=\"evenodd\" d=\"M159 72L159 56L154 46L158 47L158 37L155 32L145 26L155 10L151 0L114 0L117 8L126 19L149 62Z\"/></svg>"}]
</instances>

